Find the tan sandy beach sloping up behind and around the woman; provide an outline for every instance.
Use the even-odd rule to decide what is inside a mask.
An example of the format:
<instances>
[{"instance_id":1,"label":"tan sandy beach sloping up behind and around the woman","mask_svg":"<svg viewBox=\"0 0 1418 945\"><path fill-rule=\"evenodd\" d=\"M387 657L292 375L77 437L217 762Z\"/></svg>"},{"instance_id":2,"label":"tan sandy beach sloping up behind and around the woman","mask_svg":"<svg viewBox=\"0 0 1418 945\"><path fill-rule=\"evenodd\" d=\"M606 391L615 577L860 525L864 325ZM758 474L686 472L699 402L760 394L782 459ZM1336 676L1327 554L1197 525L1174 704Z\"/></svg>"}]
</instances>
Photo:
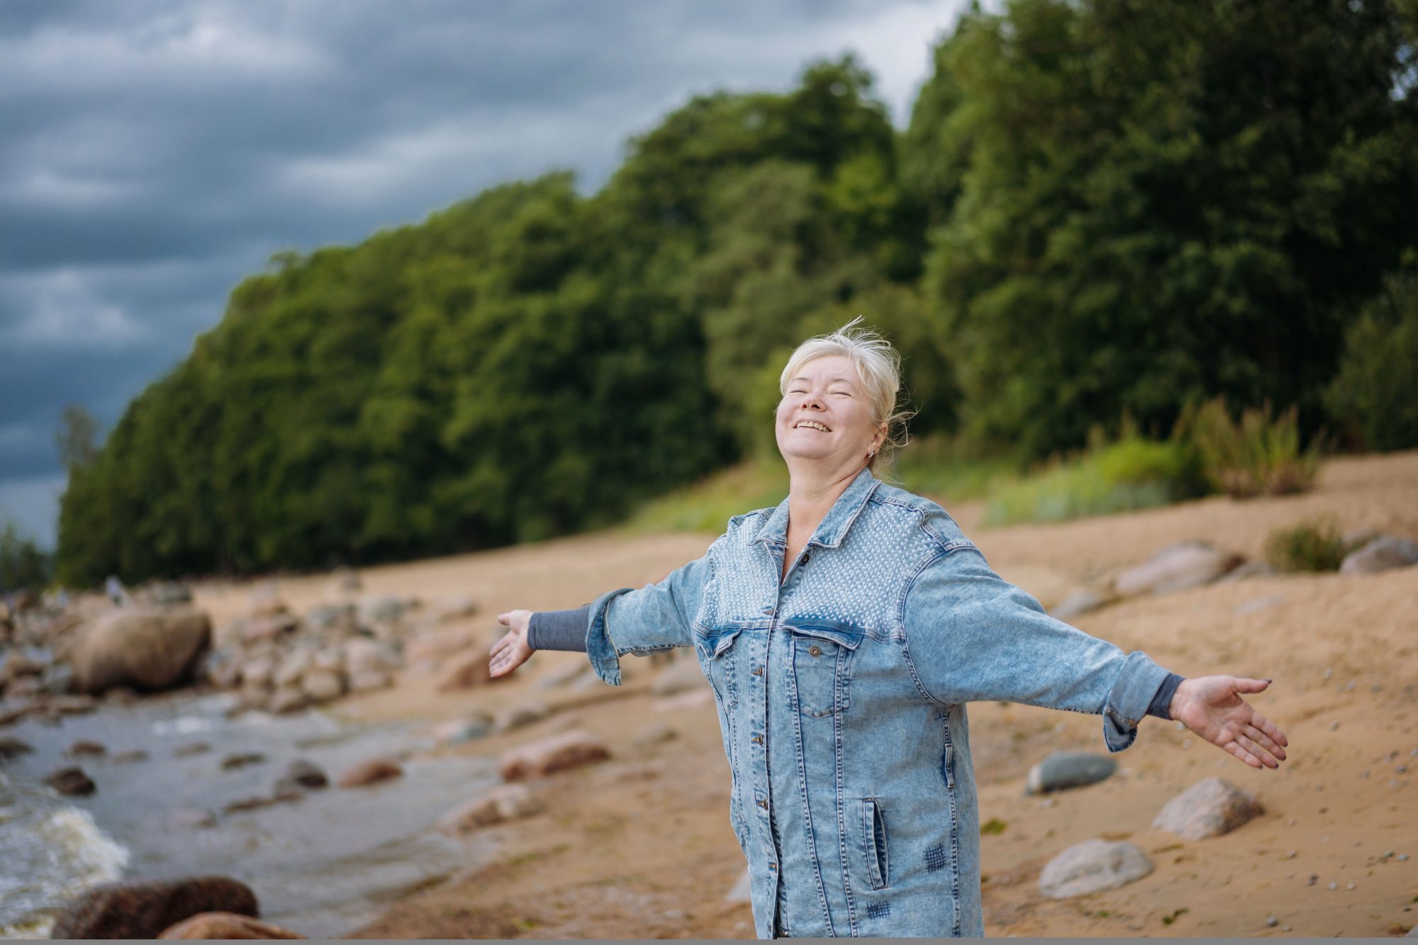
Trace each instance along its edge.
<instances>
[{"instance_id":1,"label":"tan sandy beach sloping up behind and around the woman","mask_svg":"<svg viewBox=\"0 0 1418 945\"><path fill-rule=\"evenodd\" d=\"M953 511L1004 576L1048 604L1187 538L1258 555L1269 529L1316 514L1333 514L1344 529L1374 526L1418 539L1418 453L1336 460L1316 491L1285 499L1212 498L994 531L978 528L976 507ZM373 569L364 585L423 597L468 593L488 614L569 607L608 587L657 580L710 539L590 535ZM296 606L323 593L325 580L282 582ZM199 592L218 624L247 600L245 587ZM1279 772L1256 772L1170 722L1147 719L1139 742L1117 756L1117 776L1041 802L1022 796L1029 765L1058 748L1102 751L1099 721L1020 705L971 707L981 822L1005 824L983 840L990 935L1275 936L1285 927L1305 936L1385 935L1418 924L1411 911L1418 910L1418 569L1252 579L1133 600L1078 623L1183 674L1275 678L1258 704L1289 734L1290 761ZM491 616L481 626L491 640ZM579 658L539 654L513 682L462 695L434 694L427 678L408 675L342 711L432 722L471 705L547 698L532 688L535 680ZM486 830L469 847L469 857L491 866L408 897L364 935L752 936L747 907L723 902L743 858L729 827L729 772L713 711L654 700L651 667L625 665L624 690L559 691L552 698L564 711L515 736L577 724L604 735L615 759L537 785L549 813ZM659 724L679 736L637 748L635 734ZM512 738L459 751L495 755ZM1163 803L1211 775L1256 792L1268 813L1201 843L1151 830ZM1156 871L1112 892L1044 900L1039 868L1089 837L1137 843ZM1383 858L1388 851L1409 858Z\"/></svg>"}]
</instances>

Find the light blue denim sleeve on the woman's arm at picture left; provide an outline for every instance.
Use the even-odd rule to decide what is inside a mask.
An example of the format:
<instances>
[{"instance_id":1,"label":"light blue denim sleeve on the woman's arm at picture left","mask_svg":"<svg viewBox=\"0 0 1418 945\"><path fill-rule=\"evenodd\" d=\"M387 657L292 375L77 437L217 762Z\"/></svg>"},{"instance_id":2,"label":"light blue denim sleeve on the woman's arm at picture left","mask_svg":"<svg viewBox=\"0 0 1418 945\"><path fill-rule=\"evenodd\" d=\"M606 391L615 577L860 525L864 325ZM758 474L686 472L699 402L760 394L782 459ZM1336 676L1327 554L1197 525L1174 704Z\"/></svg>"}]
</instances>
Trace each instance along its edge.
<instances>
[{"instance_id":1,"label":"light blue denim sleeve on the woman's arm at picture left","mask_svg":"<svg viewBox=\"0 0 1418 945\"><path fill-rule=\"evenodd\" d=\"M712 549L710 549L712 552ZM620 685L620 657L692 644L692 626L713 576L706 553L657 585L621 587L591 602L586 653L596 674Z\"/></svg>"}]
</instances>

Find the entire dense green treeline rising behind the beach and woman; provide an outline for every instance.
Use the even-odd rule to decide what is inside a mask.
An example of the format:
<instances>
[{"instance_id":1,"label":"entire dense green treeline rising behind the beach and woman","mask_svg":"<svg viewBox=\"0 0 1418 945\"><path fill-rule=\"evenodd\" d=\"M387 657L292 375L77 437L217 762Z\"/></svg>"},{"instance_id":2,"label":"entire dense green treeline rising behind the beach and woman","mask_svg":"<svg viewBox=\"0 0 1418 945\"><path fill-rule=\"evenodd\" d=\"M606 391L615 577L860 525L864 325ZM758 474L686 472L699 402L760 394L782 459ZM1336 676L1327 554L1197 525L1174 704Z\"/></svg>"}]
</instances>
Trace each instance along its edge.
<instances>
[{"instance_id":1,"label":"entire dense green treeline rising behind the beach and woman","mask_svg":"<svg viewBox=\"0 0 1418 945\"><path fill-rule=\"evenodd\" d=\"M593 196L553 175L278 257L69 464L60 576L604 524L767 448L784 353L856 314L906 353L917 433L1039 457L1214 394L1313 430L1373 400L1333 390L1346 331L1412 287L1414 13L973 9L905 131L847 57L695 98Z\"/></svg>"}]
</instances>

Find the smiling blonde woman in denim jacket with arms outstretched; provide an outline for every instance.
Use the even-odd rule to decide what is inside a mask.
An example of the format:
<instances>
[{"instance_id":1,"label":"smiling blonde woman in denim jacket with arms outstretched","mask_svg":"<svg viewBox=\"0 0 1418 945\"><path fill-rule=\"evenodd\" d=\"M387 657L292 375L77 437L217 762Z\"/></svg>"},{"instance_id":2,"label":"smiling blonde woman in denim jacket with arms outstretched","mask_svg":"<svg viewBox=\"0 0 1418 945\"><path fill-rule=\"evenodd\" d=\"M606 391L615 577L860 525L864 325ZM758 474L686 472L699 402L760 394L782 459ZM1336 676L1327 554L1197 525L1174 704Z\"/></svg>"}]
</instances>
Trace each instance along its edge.
<instances>
[{"instance_id":1,"label":"smiling blonde woman in denim jacket with arms outstretched","mask_svg":"<svg viewBox=\"0 0 1418 945\"><path fill-rule=\"evenodd\" d=\"M729 519L658 585L498 617L493 675L576 648L618 685L627 653L695 648L760 938L984 934L966 702L1100 714L1115 752L1151 712L1252 768L1285 758L1241 698L1268 680L1183 681L1054 620L944 509L878 481L899 387L896 352L868 331L804 342L776 420L787 499Z\"/></svg>"}]
</instances>

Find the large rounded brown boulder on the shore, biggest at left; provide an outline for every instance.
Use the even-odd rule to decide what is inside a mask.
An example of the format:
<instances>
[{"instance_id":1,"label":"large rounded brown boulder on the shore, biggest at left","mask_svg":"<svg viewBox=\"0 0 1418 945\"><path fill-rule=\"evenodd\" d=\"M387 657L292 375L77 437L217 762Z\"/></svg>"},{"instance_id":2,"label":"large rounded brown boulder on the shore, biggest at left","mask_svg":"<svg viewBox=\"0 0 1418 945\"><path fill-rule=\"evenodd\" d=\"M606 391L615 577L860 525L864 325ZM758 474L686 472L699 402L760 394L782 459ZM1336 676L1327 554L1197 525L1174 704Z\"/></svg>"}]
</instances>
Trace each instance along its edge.
<instances>
[{"instance_id":1,"label":"large rounded brown boulder on the shore, biggest at left","mask_svg":"<svg viewBox=\"0 0 1418 945\"><path fill-rule=\"evenodd\" d=\"M167 690L193 678L211 644L211 619L187 607L125 607L86 627L69 661L74 688Z\"/></svg>"}]
</instances>

